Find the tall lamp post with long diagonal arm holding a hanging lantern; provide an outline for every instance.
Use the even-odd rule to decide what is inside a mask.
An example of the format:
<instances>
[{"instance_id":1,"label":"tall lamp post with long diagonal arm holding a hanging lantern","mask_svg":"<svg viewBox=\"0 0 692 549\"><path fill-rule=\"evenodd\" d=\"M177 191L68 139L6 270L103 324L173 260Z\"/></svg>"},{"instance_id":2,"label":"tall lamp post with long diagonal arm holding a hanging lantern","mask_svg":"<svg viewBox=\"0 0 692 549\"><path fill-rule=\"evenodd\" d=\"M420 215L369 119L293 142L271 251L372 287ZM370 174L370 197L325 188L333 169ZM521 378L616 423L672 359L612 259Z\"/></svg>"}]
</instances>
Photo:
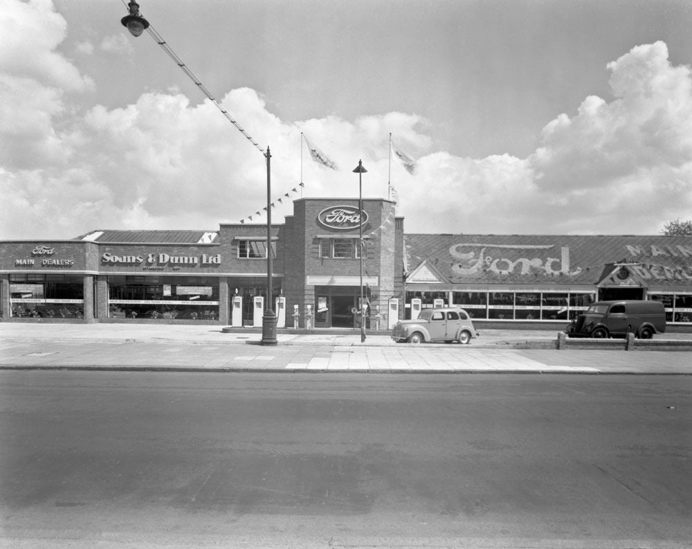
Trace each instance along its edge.
<instances>
[{"instance_id":1,"label":"tall lamp post with long diagonal arm holding a hanging lantern","mask_svg":"<svg viewBox=\"0 0 692 549\"><path fill-rule=\"evenodd\" d=\"M127 30L129 30L132 36L138 37L147 28L149 28L149 21L147 21L147 19L140 15L139 4L136 3L136 1L130 0L129 3L127 3L127 8L129 10L129 14L120 19L120 23L122 23L123 26L127 27ZM203 87L201 82L199 82L199 80L192 74L190 69L188 69L188 67L185 66L183 62L181 62L179 57L172 51L172 49L170 48L170 46L168 46L165 40L161 38L158 35L158 33L151 29L149 30L149 33L152 35L152 37L154 37L156 42L158 42L158 45L161 46L163 50L171 57L171 59L183 70L183 72L186 75L188 75L190 80L192 80L192 82L194 82L194 84L197 87L199 87L199 89L201 89L201 91L210 100L212 100L212 102L214 102L214 104L221 111L221 114L223 114L230 121L230 123L232 123L239 130L239 132L241 132L249 141L251 141L251 143L253 143L253 145L255 145L255 147L257 147L257 149L259 149L260 152L262 152L264 158L266 159L266 305L264 307L264 315L262 316L262 345L276 345L277 318L276 313L274 312L274 303L272 296L273 288L271 280L273 258L271 255L271 153L269 152L269 147L267 145L266 152L264 152L264 150L262 150L262 147L260 147L260 145L257 145L255 140L253 140L253 138L249 136L248 133L242 127L240 127L235 120L233 120L233 118L230 117L228 112L224 110L224 107L221 107L219 102L210 95L206 88Z\"/></svg>"}]
</instances>

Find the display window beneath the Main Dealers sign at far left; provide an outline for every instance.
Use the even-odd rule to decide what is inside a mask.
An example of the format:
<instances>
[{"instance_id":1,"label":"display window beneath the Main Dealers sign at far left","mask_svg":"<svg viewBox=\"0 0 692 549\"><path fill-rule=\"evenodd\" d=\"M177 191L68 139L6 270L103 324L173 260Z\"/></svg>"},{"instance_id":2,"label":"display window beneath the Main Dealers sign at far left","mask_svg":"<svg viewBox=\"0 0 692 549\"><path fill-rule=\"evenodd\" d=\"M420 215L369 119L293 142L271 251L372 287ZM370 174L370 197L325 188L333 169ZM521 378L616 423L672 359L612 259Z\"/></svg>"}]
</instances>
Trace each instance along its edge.
<instances>
[{"instance_id":1,"label":"display window beneath the Main Dealers sign at far left","mask_svg":"<svg viewBox=\"0 0 692 549\"><path fill-rule=\"evenodd\" d=\"M84 276L10 274L13 318L84 318Z\"/></svg>"}]
</instances>

